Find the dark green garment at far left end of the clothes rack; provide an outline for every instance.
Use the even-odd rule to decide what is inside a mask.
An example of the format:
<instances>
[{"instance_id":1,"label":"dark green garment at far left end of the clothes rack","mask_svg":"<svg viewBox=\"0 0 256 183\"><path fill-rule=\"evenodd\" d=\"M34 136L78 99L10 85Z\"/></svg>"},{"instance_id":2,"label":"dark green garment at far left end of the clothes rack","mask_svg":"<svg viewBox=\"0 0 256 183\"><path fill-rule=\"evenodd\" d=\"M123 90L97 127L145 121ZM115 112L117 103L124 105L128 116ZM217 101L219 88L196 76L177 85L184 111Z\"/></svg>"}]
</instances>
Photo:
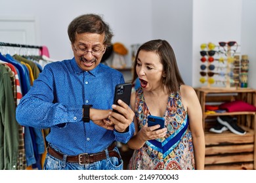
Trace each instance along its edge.
<instances>
[{"instance_id":1,"label":"dark green garment at far left end of the clothes rack","mask_svg":"<svg viewBox=\"0 0 256 183\"><path fill-rule=\"evenodd\" d=\"M15 108L10 75L0 64L0 169L17 169L19 137Z\"/></svg>"}]
</instances>

